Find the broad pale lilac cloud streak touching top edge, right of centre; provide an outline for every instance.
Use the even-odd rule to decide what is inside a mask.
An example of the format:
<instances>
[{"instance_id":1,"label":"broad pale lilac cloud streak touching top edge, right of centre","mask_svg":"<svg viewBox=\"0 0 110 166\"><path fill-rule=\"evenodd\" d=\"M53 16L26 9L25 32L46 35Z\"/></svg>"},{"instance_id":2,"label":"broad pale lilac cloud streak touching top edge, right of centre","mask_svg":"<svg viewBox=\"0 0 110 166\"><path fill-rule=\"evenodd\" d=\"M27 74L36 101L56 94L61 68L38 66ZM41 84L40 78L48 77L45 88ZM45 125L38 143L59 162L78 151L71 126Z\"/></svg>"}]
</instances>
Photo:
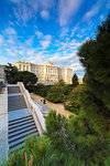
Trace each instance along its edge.
<instances>
[{"instance_id":1,"label":"broad pale lilac cloud streak touching top edge, right of centre","mask_svg":"<svg viewBox=\"0 0 110 166\"><path fill-rule=\"evenodd\" d=\"M61 25L66 25L78 11L82 0L59 0L58 20Z\"/></svg>"}]
</instances>

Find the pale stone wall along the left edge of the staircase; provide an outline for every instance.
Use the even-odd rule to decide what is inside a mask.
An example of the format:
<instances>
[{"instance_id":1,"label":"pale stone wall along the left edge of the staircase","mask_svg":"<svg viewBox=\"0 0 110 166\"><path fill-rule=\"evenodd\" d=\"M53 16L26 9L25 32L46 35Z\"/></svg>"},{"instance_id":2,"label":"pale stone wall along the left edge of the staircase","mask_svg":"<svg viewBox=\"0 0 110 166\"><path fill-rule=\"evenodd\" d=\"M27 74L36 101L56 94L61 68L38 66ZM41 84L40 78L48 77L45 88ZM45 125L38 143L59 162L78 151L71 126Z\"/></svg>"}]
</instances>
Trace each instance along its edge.
<instances>
[{"instance_id":1,"label":"pale stone wall along the left edge of the staircase","mask_svg":"<svg viewBox=\"0 0 110 166\"><path fill-rule=\"evenodd\" d=\"M8 159L8 89L2 87L0 94L0 164Z\"/></svg>"}]
</instances>

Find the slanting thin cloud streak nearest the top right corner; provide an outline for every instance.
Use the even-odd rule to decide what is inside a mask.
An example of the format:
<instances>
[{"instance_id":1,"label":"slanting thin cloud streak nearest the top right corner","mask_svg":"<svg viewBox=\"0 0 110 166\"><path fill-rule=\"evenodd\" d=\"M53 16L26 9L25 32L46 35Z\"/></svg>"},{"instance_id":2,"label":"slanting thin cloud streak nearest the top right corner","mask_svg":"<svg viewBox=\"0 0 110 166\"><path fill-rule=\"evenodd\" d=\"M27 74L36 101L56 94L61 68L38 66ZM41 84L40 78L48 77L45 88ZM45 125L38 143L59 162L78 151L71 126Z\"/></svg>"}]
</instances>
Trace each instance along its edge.
<instances>
[{"instance_id":1,"label":"slanting thin cloud streak nearest the top right corner","mask_svg":"<svg viewBox=\"0 0 110 166\"><path fill-rule=\"evenodd\" d=\"M95 14L97 14L99 12L100 7L101 7L101 0L98 0L98 2L94 4L92 8L84 15L84 20L90 19Z\"/></svg>"}]
</instances>

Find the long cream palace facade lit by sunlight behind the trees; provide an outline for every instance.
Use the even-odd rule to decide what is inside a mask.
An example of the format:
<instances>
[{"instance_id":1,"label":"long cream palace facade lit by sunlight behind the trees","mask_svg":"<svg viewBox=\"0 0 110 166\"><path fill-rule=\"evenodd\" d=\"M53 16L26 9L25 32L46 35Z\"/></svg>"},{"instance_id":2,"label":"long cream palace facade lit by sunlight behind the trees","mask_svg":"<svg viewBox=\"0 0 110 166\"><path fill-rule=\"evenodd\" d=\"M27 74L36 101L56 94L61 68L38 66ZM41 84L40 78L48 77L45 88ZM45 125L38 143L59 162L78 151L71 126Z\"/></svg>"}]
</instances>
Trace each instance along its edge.
<instances>
[{"instance_id":1,"label":"long cream palace facade lit by sunlight behind the trees","mask_svg":"<svg viewBox=\"0 0 110 166\"><path fill-rule=\"evenodd\" d=\"M59 80L64 80L66 84L72 84L73 70L69 68L55 66L51 61L42 65L25 62L25 60L23 60L16 61L15 66L19 71L34 73L38 79L37 83L51 85L57 83Z\"/></svg>"}]
</instances>

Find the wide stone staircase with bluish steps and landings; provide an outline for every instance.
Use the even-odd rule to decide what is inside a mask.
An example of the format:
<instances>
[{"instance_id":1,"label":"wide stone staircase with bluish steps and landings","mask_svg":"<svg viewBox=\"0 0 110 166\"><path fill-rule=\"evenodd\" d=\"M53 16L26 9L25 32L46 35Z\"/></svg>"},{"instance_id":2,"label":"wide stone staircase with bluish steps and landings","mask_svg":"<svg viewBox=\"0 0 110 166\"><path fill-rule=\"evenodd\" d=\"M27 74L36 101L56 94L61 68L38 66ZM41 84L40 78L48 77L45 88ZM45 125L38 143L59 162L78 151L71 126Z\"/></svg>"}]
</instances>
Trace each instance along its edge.
<instances>
[{"instance_id":1,"label":"wide stone staircase with bluish steps and landings","mask_svg":"<svg viewBox=\"0 0 110 166\"><path fill-rule=\"evenodd\" d=\"M29 111L24 97L16 85L8 86L9 149L23 146L28 136L38 135L34 118Z\"/></svg>"}]
</instances>

